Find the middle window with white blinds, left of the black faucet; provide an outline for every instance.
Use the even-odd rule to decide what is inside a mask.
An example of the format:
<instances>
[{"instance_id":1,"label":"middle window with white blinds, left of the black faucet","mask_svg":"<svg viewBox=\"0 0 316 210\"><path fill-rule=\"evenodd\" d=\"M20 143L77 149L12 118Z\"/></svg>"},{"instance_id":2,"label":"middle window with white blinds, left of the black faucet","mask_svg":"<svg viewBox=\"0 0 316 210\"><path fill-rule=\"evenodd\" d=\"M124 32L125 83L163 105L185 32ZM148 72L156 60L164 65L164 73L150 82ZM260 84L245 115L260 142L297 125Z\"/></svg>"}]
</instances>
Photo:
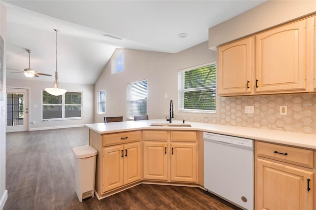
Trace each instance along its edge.
<instances>
[{"instance_id":1,"label":"middle window with white blinds, left of the black faucet","mask_svg":"<svg viewBox=\"0 0 316 210\"><path fill-rule=\"evenodd\" d=\"M147 115L147 80L127 85L127 118Z\"/></svg>"}]
</instances>

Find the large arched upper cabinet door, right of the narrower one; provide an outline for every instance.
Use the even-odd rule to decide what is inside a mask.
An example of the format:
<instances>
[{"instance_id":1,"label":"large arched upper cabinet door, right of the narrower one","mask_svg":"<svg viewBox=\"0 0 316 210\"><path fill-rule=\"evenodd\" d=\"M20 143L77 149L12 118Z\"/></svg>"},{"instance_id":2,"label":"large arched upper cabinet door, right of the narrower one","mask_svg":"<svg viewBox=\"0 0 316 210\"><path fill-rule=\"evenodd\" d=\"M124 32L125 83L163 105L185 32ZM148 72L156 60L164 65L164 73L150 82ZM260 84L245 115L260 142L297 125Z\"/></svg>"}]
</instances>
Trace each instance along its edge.
<instances>
[{"instance_id":1,"label":"large arched upper cabinet door, right of the narrower one","mask_svg":"<svg viewBox=\"0 0 316 210\"><path fill-rule=\"evenodd\" d=\"M256 92L306 90L305 20L255 36Z\"/></svg>"}]
</instances>

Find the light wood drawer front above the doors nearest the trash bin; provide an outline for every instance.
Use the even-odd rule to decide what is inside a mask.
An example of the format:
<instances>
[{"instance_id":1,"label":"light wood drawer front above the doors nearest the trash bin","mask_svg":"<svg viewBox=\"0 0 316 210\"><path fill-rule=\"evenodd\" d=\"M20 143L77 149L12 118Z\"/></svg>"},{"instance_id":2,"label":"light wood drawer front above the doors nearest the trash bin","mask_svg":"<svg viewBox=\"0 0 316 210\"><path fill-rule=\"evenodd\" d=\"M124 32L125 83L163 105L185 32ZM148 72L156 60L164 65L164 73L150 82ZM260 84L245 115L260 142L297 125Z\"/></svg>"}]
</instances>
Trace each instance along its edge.
<instances>
[{"instance_id":1,"label":"light wood drawer front above the doors nearest the trash bin","mask_svg":"<svg viewBox=\"0 0 316 210\"><path fill-rule=\"evenodd\" d=\"M141 131L103 135L103 146L141 140Z\"/></svg>"}]
</instances>

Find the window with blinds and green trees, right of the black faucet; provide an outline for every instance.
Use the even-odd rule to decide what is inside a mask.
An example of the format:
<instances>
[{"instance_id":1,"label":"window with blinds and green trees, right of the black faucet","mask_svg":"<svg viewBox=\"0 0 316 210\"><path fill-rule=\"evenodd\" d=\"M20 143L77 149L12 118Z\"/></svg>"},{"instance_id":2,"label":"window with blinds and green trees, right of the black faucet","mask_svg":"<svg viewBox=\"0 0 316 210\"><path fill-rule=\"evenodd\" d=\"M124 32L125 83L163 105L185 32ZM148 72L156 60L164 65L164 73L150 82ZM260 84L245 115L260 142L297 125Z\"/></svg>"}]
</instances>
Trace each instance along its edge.
<instances>
[{"instance_id":1,"label":"window with blinds and green trees, right of the black faucet","mask_svg":"<svg viewBox=\"0 0 316 210\"><path fill-rule=\"evenodd\" d=\"M216 63L179 71L179 111L215 113Z\"/></svg>"}]
</instances>

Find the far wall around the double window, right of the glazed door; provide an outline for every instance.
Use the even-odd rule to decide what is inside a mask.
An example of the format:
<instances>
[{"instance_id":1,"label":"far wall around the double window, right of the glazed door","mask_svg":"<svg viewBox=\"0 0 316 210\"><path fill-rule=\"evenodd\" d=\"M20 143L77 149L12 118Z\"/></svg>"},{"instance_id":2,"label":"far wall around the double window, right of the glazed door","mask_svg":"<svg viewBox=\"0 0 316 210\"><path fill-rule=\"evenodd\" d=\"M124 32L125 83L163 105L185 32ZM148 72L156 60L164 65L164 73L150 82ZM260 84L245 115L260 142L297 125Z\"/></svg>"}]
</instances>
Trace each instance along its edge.
<instances>
[{"instance_id":1,"label":"far wall around the double window, right of the glazed door","mask_svg":"<svg viewBox=\"0 0 316 210\"><path fill-rule=\"evenodd\" d=\"M67 128L83 126L94 122L94 85L60 83L61 87L67 91L82 92L82 119L76 120L52 120L41 121L41 90L51 87L52 82L36 81L32 79L6 79L7 88L29 88L29 130L44 130L55 128Z\"/></svg>"}]
</instances>

